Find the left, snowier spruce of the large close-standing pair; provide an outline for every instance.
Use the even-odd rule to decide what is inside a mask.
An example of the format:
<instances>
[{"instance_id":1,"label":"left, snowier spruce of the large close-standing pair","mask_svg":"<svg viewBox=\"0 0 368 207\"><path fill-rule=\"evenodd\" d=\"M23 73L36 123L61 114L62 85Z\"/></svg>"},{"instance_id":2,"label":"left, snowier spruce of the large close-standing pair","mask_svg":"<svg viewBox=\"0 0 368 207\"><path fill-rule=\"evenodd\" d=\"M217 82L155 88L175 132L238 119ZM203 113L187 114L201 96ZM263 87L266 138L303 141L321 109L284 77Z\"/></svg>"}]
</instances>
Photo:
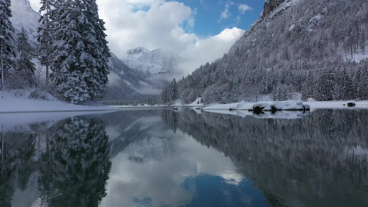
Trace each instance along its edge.
<instances>
[{"instance_id":1,"label":"left, snowier spruce of the large close-standing pair","mask_svg":"<svg viewBox=\"0 0 368 207\"><path fill-rule=\"evenodd\" d=\"M56 88L68 98L71 103L85 101L89 97L89 87L84 73L86 63L84 58L85 45L81 28L85 17L79 8L78 2L66 0L57 8L54 16L53 41L53 78ZM83 58L81 58L83 56Z\"/></svg>"}]
</instances>

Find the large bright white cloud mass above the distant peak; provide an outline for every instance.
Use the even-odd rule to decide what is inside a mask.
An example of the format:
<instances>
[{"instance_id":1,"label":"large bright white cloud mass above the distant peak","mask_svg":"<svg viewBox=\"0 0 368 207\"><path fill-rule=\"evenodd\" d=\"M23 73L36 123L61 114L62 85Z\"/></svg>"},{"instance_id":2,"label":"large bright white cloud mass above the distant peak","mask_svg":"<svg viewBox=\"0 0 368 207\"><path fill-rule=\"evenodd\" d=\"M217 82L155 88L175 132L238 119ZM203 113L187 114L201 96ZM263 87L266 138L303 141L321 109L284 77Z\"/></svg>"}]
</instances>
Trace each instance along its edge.
<instances>
[{"instance_id":1,"label":"large bright white cloud mass above the distant peak","mask_svg":"<svg viewBox=\"0 0 368 207\"><path fill-rule=\"evenodd\" d=\"M30 0L35 10L39 0ZM166 0L97 0L99 14L106 24L107 41L117 57L131 48L162 48L185 59L186 73L200 64L213 61L228 52L243 35L239 28L224 29L220 34L199 37L193 31L197 10L177 1ZM225 7L229 17L227 1ZM39 7L39 5L38 5Z\"/></svg>"}]
</instances>

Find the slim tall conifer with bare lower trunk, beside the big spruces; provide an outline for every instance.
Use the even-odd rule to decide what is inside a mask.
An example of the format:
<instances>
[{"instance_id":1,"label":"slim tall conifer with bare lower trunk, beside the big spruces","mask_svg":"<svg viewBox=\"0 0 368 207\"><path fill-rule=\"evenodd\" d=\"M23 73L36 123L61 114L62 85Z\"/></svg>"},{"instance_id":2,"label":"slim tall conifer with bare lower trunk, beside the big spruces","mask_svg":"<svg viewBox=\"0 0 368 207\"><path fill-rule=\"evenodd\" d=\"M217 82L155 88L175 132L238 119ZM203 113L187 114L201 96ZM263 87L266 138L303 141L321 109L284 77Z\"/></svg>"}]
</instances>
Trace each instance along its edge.
<instances>
[{"instance_id":1,"label":"slim tall conifer with bare lower trunk, beside the big spruces","mask_svg":"<svg viewBox=\"0 0 368 207\"><path fill-rule=\"evenodd\" d=\"M37 52L40 64L46 67L46 85L49 84L49 70L52 62L52 0L41 0L39 14L41 17L38 22L40 26L37 29L37 41L40 46Z\"/></svg>"}]
</instances>

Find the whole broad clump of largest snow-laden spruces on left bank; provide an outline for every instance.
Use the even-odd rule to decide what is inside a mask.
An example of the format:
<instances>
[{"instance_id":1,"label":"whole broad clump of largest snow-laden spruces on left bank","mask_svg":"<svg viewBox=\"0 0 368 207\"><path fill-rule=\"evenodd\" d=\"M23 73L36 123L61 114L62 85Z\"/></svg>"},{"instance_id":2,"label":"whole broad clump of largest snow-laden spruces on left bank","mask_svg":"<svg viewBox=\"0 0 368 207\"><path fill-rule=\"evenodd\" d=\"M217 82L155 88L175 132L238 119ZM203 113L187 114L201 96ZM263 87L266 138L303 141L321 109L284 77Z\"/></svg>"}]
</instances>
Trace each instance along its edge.
<instances>
[{"instance_id":1,"label":"whole broad clump of largest snow-laden spruces on left bank","mask_svg":"<svg viewBox=\"0 0 368 207\"><path fill-rule=\"evenodd\" d=\"M66 0L59 6L53 41L53 81L72 103L103 96L108 83L104 22L95 0Z\"/></svg>"}]
</instances>

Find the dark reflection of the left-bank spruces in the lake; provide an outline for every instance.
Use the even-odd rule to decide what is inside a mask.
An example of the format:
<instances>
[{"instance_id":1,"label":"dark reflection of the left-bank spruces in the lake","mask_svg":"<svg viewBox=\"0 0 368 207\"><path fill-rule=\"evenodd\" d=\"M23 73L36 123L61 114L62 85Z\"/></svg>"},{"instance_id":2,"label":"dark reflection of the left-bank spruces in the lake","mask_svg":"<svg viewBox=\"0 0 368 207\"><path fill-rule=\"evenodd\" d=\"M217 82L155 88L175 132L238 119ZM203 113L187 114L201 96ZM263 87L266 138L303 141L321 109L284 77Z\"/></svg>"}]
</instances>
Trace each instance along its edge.
<instances>
[{"instance_id":1,"label":"dark reflection of the left-bank spruces in the lake","mask_svg":"<svg viewBox=\"0 0 368 207\"><path fill-rule=\"evenodd\" d=\"M111 167L102 121L74 117L29 129L1 133L0 206L98 206Z\"/></svg>"}]
</instances>

